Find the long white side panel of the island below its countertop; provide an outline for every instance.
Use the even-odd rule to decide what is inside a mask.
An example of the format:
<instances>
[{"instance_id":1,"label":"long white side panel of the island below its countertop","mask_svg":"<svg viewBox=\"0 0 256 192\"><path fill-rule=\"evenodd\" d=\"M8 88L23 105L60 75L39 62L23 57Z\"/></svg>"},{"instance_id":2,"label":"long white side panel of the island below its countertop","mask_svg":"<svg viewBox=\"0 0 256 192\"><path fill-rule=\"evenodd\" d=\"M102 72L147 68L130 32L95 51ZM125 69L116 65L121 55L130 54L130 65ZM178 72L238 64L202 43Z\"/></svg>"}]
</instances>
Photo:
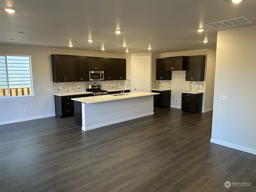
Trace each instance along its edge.
<instances>
[{"instance_id":1,"label":"long white side panel of the island below its countertop","mask_svg":"<svg viewBox=\"0 0 256 192\"><path fill-rule=\"evenodd\" d=\"M82 103L82 130L91 130L154 114L154 96Z\"/></svg>"}]
</instances>

